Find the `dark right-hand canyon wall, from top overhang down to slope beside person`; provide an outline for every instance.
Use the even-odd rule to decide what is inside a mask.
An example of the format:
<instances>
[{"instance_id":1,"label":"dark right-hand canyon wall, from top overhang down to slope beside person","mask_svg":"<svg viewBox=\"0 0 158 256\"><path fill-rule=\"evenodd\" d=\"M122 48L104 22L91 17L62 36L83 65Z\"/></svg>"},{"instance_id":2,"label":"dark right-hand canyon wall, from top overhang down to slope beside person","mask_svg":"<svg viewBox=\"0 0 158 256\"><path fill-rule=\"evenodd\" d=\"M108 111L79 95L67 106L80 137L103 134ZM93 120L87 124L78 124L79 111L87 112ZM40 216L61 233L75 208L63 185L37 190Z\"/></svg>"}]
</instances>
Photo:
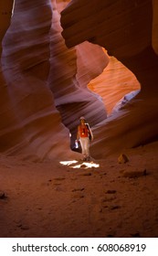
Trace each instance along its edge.
<instances>
[{"instance_id":1,"label":"dark right-hand canyon wall, from top overhang down to slope beside person","mask_svg":"<svg viewBox=\"0 0 158 256\"><path fill-rule=\"evenodd\" d=\"M68 48L85 40L106 48L132 70L142 87L119 115L95 128L95 156L158 137L157 5L152 0L72 0L61 13ZM100 150L96 151L97 147Z\"/></svg>"}]
</instances>

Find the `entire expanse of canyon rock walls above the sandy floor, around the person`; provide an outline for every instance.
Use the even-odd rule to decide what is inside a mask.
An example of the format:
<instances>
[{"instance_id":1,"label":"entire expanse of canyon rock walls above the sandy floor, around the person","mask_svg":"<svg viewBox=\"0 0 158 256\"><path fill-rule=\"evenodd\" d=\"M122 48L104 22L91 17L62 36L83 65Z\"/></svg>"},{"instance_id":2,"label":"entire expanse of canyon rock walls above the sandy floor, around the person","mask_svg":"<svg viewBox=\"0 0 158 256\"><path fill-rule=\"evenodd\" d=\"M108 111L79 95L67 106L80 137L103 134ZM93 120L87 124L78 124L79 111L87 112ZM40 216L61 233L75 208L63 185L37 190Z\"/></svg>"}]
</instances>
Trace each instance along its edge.
<instances>
[{"instance_id":1,"label":"entire expanse of canyon rock walls above the sandy floor, around the person","mask_svg":"<svg viewBox=\"0 0 158 256\"><path fill-rule=\"evenodd\" d=\"M0 2L2 153L75 156L70 147L81 115L92 127L96 158L157 139L156 0L16 0L14 11L13 5Z\"/></svg>"}]
</instances>

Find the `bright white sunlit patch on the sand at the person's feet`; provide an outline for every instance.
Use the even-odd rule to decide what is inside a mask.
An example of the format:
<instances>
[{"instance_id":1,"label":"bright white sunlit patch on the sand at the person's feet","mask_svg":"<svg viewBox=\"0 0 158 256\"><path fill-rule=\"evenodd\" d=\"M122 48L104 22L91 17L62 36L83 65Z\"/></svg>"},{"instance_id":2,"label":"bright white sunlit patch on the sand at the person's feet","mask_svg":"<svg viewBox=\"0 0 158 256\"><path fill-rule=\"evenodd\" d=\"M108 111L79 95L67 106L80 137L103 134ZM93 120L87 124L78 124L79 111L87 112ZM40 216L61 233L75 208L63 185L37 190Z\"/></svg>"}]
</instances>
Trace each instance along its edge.
<instances>
[{"instance_id":1,"label":"bright white sunlit patch on the sand at the person's feet","mask_svg":"<svg viewBox=\"0 0 158 256\"><path fill-rule=\"evenodd\" d=\"M95 164L93 162L81 162L81 163L79 163L79 161L76 161L76 160L62 161L62 162L60 162L60 164L61 165L68 165L69 167L74 168L74 169L79 169L79 168L88 169L88 168L92 168L92 167L94 167L94 168L100 167L99 164Z\"/></svg>"}]
</instances>

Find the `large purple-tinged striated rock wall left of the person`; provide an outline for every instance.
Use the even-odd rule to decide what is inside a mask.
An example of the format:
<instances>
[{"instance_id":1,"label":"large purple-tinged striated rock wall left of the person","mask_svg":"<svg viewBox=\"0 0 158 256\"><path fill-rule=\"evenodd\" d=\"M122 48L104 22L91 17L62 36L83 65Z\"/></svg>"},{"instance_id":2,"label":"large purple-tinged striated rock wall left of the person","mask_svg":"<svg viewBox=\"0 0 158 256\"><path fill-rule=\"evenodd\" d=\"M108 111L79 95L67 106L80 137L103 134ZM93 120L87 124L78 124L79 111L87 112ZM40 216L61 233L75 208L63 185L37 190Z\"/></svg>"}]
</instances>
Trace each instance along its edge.
<instances>
[{"instance_id":1,"label":"large purple-tinged striated rock wall left of the person","mask_svg":"<svg viewBox=\"0 0 158 256\"><path fill-rule=\"evenodd\" d=\"M17 0L3 40L0 150L9 154L72 155L68 129L47 88L51 19L50 1Z\"/></svg>"}]
</instances>

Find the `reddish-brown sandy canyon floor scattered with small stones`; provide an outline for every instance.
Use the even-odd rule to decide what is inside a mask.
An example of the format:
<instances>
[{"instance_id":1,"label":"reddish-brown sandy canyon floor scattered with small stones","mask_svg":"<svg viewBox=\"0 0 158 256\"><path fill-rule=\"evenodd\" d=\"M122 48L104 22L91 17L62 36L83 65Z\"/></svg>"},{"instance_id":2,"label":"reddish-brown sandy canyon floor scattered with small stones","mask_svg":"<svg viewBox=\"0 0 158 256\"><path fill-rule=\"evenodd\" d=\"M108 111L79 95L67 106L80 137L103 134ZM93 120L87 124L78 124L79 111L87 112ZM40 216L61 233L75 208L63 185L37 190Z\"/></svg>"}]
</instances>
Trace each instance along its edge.
<instances>
[{"instance_id":1,"label":"reddish-brown sandy canyon floor scattered with small stones","mask_svg":"<svg viewBox=\"0 0 158 256\"><path fill-rule=\"evenodd\" d=\"M123 153L97 168L0 155L0 237L158 237L158 143Z\"/></svg>"}]
</instances>

